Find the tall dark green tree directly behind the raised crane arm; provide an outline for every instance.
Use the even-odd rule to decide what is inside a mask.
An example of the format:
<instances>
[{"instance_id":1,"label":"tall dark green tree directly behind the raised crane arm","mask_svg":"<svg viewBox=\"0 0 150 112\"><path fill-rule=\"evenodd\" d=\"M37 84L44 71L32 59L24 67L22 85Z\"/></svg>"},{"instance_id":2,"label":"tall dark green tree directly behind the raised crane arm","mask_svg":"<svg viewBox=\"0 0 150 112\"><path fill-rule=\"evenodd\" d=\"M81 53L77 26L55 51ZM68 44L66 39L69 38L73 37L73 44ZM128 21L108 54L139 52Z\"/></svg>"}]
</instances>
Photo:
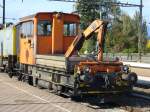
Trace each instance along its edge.
<instances>
[{"instance_id":1,"label":"tall dark green tree directly behind the raised crane arm","mask_svg":"<svg viewBox=\"0 0 150 112\"><path fill-rule=\"evenodd\" d=\"M117 17L117 14L120 13L120 8L116 6L112 7L110 3L104 4L105 1L106 0L78 0L76 9L81 17L81 29L85 29L91 24L92 21L100 18L100 13L102 14L103 18L108 18L109 14ZM108 0L108 2L113 1L116 0ZM81 51L92 52L95 50L95 46L96 38L91 38L85 42Z\"/></svg>"}]
</instances>

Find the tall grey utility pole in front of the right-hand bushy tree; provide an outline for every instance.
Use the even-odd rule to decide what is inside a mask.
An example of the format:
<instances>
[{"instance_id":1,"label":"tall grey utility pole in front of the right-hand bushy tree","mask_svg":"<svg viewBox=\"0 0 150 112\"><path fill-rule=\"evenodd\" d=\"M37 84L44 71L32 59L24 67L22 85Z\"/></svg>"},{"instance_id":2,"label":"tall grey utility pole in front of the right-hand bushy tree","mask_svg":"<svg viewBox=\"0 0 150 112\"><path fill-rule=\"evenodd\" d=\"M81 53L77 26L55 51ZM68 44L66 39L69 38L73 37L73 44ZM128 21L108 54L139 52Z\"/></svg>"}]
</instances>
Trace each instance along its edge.
<instances>
[{"instance_id":1,"label":"tall grey utility pole in front of the right-hand bushy tree","mask_svg":"<svg viewBox=\"0 0 150 112\"><path fill-rule=\"evenodd\" d=\"M141 62L141 58L142 58L142 40L143 40L143 14L142 14L142 8L143 8L143 1L140 0L140 29L139 29L139 38L138 38L138 53L139 53L139 61Z\"/></svg>"}]
</instances>

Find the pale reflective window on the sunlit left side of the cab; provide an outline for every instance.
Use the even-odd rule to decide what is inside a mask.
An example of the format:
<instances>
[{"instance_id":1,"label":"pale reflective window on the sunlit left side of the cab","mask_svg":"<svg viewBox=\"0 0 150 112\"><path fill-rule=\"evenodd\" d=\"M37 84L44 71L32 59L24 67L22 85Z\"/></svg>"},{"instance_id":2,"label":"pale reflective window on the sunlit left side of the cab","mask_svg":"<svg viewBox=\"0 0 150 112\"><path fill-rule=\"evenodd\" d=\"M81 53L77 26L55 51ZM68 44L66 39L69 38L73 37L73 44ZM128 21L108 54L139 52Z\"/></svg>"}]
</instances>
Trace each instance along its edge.
<instances>
[{"instance_id":1,"label":"pale reflective window on the sunlit left side of the cab","mask_svg":"<svg viewBox=\"0 0 150 112\"><path fill-rule=\"evenodd\" d=\"M33 21L24 22L21 25L21 37L33 36Z\"/></svg>"}]
</instances>

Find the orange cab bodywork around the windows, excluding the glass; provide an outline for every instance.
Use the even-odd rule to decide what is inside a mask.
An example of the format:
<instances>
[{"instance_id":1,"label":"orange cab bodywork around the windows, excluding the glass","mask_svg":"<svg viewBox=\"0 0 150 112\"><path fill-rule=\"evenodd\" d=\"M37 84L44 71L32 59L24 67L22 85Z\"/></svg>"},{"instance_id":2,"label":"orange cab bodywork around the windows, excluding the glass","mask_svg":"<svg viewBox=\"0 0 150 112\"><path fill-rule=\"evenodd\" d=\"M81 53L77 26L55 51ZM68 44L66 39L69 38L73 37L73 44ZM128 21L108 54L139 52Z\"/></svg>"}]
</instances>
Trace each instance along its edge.
<instances>
[{"instance_id":1,"label":"orange cab bodywork around the windows, excluding the glass","mask_svg":"<svg viewBox=\"0 0 150 112\"><path fill-rule=\"evenodd\" d=\"M38 35L38 21L47 20L51 23L50 35ZM20 63L35 64L36 55L64 54L75 36L64 36L64 23L75 23L79 26L80 18L75 14L37 13L21 19L20 24L33 22L33 36L23 37L20 32Z\"/></svg>"}]
</instances>

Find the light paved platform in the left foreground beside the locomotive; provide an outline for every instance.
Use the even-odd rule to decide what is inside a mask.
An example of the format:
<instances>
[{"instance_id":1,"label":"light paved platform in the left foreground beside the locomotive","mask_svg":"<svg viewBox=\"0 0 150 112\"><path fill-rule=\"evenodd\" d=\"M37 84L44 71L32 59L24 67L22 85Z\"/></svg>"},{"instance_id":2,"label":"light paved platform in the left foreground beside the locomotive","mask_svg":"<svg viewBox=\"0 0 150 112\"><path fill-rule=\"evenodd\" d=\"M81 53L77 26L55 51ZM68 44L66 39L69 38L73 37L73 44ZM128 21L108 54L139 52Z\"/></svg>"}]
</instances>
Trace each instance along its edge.
<instances>
[{"instance_id":1,"label":"light paved platform in the left foreground beside the locomotive","mask_svg":"<svg viewBox=\"0 0 150 112\"><path fill-rule=\"evenodd\" d=\"M125 112L123 109L91 108L88 104L74 102L48 90L10 79L0 73L0 112Z\"/></svg>"}]
</instances>

